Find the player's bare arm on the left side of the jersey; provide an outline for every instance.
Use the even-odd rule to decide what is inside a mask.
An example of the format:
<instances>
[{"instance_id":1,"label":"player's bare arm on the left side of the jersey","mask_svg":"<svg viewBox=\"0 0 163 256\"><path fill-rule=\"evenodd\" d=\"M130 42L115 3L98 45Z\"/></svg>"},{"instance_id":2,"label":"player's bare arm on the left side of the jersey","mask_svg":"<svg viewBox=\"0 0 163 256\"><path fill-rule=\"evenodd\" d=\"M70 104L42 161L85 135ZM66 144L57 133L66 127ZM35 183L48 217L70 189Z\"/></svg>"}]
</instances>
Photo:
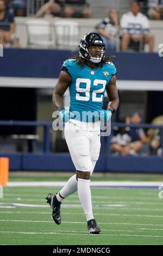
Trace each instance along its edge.
<instances>
[{"instance_id":1,"label":"player's bare arm on the left side of the jersey","mask_svg":"<svg viewBox=\"0 0 163 256\"><path fill-rule=\"evenodd\" d=\"M65 94L70 82L71 76L67 72L61 71L58 82L53 91L53 105L57 109L64 107L64 101L62 100L62 96Z\"/></svg>"}]
</instances>

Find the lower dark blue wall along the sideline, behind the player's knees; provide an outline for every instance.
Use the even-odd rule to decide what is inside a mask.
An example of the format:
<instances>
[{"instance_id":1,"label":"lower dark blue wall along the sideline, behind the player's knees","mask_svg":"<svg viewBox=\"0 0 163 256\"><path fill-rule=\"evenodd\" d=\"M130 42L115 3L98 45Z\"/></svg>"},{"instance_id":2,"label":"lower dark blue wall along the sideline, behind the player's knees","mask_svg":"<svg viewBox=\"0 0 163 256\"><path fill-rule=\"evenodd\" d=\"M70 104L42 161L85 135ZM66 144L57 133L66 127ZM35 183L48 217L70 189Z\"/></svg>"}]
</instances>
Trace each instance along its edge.
<instances>
[{"instance_id":1,"label":"lower dark blue wall along the sideline, behind the player's knees","mask_svg":"<svg viewBox=\"0 0 163 256\"><path fill-rule=\"evenodd\" d=\"M70 154L1 154L10 170L75 171ZM101 154L95 172L163 173L163 157L108 156Z\"/></svg>"}]
</instances>

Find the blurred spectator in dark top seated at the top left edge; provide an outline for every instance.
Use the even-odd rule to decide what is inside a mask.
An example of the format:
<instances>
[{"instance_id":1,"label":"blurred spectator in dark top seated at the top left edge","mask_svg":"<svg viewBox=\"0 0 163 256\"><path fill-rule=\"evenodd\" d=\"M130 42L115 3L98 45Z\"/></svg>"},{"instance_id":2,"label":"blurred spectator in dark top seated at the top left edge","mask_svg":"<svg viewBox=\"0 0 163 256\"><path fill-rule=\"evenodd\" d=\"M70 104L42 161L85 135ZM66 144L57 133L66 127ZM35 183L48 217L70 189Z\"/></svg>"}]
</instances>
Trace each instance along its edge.
<instances>
[{"instance_id":1,"label":"blurred spectator in dark top seated at the top left edge","mask_svg":"<svg viewBox=\"0 0 163 256\"><path fill-rule=\"evenodd\" d=\"M6 9L5 1L0 0L0 44L4 47L7 46L7 44L13 44L15 47L20 47L14 32L14 16Z\"/></svg>"}]
</instances>

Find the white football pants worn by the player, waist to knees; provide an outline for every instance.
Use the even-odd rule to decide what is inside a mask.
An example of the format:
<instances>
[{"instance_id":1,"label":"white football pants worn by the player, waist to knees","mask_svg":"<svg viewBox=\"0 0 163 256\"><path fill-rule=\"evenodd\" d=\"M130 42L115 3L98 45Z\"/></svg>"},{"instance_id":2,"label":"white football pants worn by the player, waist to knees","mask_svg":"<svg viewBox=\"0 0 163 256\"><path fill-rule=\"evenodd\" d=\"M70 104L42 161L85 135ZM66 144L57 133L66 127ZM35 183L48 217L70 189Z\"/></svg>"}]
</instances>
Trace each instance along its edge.
<instances>
[{"instance_id":1,"label":"white football pants worn by the player, waist to knees","mask_svg":"<svg viewBox=\"0 0 163 256\"><path fill-rule=\"evenodd\" d=\"M100 123L83 127L84 122L71 120L65 123L65 138L76 170L93 172L101 148Z\"/></svg>"}]
</instances>

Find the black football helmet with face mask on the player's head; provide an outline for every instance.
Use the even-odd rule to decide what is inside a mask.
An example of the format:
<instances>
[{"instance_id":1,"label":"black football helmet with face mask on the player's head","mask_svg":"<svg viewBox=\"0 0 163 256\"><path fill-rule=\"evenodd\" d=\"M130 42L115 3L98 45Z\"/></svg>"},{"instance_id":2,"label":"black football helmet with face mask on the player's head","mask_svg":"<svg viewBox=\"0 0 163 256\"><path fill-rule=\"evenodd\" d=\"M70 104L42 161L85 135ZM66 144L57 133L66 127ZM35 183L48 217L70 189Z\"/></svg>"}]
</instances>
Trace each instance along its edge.
<instances>
[{"instance_id":1,"label":"black football helmet with face mask on the player's head","mask_svg":"<svg viewBox=\"0 0 163 256\"><path fill-rule=\"evenodd\" d=\"M92 45L102 46L102 50L89 52L88 47ZM91 54L93 53L93 56ZM100 53L100 54L99 54ZM92 63L99 63L104 58L105 44L101 36L97 33L87 33L79 42L79 56L90 60Z\"/></svg>"}]
</instances>

